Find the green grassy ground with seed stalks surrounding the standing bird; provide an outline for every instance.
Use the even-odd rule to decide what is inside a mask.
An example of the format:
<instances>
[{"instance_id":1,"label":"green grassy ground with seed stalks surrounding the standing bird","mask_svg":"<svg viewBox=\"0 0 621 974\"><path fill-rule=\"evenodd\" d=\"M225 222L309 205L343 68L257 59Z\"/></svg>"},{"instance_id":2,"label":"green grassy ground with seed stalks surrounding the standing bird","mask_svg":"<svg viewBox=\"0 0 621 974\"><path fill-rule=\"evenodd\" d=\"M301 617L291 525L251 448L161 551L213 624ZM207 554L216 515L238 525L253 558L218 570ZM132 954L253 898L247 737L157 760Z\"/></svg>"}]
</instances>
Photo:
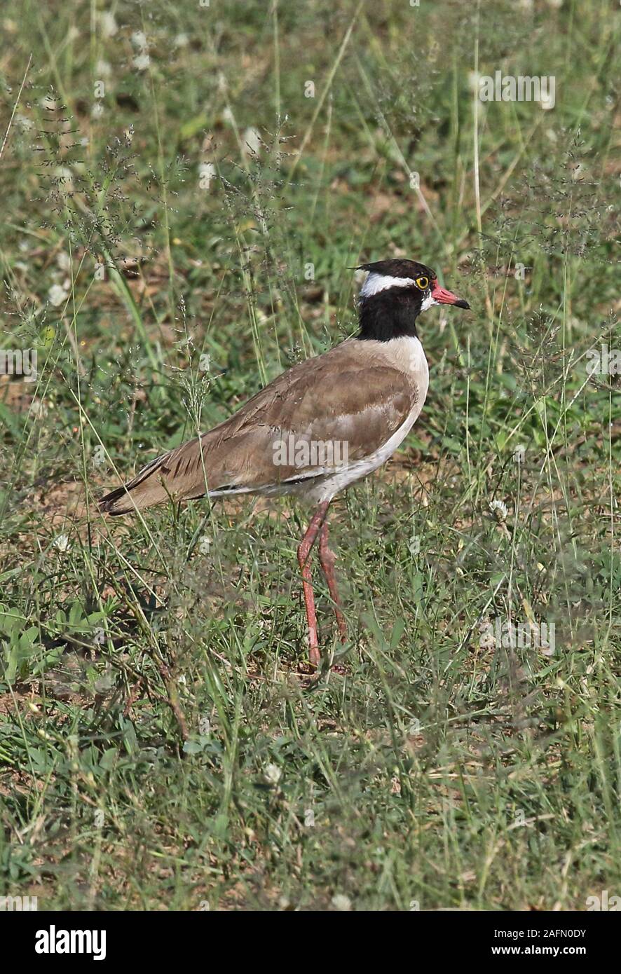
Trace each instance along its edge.
<instances>
[{"instance_id":1,"label":"green grassy ground with seed stalks surrounding the standing bird","mask_svg":"<svg viewBox=\"0 0 621 974\"><path fill-rule=\"evenodd\" d=\"M619 387L586 367L620 341L612 8L107 10L3 22L3 343L38 363L0 379L3 892L618 892ZM498 68L554 75L554 109L479 102ZM96 501L352 333L346 268L400 254L473 312L421 319L421 418L335 504L349 672L311 685L305 511ZM496 619L554 623L556 651L490 647Z\"/></svg>"}]
</instances>

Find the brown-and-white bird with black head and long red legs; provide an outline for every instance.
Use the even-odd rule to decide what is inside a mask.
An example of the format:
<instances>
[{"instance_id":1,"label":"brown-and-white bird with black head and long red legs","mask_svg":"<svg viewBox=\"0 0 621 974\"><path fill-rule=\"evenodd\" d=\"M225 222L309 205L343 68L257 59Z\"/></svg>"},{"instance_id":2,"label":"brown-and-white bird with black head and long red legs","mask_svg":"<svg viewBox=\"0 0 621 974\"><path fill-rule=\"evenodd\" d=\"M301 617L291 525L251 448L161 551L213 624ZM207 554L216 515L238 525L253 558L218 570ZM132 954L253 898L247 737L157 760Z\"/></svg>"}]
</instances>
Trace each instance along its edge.
<instances>
[{"instance_id":1,"label":"brown-and-white bird with black head and long red legs","mask_svg":"<svg viewBox=\"0 0 621 974\"><path fill-rule=\"evenodd\" d=\"M316 545L340 641L348 639L329 545L330 504L381 467L418 419L429 388L419 315L435 305L470 308L414 260L390 258L351 270L366 272L355 336L293 365L228 419L152 460L99 501L111 515L170 499L244 494L291 495L310 505L297 562L313 671L322 665L310 560Z\"/></svg>"}]
</instances>

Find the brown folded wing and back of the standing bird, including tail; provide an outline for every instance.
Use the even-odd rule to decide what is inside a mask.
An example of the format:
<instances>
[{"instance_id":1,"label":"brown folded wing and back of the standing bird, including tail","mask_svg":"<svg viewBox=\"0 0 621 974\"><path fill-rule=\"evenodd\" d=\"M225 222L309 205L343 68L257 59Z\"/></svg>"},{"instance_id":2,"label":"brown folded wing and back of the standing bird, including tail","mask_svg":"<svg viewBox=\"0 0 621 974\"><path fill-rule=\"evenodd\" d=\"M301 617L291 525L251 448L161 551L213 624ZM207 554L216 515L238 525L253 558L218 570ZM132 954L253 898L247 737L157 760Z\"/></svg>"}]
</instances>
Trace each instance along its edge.
<instances>
[{"instance_id":1,"label":"brown folded wing and back of the standing bird, including tail","mask_svg":"<svg viewBox=\"0 0 621 974\"><path fill-rule=\"evenodd\" d=\"M349 463L366 459L405 422L418 390L404 372L364 346L343 342L293 366L213 430L142 468L106 495L100 508L124 514L169 497L252 492L317 476L328 471L327 453L320 450L318 457L312 443L346 442ZM288 462L279 453L283 443Z\"/></svg>"}]
</instances>

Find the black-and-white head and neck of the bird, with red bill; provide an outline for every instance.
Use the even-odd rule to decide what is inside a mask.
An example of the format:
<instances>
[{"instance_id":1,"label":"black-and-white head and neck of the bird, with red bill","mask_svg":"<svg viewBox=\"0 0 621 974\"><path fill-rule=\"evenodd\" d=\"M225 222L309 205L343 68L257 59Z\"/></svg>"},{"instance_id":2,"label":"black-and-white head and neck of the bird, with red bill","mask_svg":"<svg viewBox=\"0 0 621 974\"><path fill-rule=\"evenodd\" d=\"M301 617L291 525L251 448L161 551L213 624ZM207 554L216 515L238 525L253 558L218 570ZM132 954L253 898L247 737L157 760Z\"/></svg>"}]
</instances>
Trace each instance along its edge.
<instances>
[{"instance_id":1,"label":"black-and-white head and neck of the bird, with red bill","mask_svg":"<svg viewBox=\"0 0 621 974\"><path fill-rule=\"evenodd\" d=\"M433 305L470 307L440 286L435 271L415 260L377 260L356 270L369 272L359 295L359 338L387 342L415 336L416 318Z\"/></svg>"}]
</instances>

